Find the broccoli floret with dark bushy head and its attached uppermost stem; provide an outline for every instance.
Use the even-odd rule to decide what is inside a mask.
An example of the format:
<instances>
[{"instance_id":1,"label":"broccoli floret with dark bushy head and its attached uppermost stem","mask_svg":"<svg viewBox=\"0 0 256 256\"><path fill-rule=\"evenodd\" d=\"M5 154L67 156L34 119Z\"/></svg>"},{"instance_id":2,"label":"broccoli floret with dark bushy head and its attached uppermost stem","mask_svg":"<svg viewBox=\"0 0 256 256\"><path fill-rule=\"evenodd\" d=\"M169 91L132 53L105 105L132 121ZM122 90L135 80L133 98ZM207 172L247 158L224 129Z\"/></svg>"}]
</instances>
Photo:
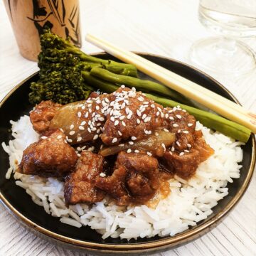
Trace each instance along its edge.
<instances>
[{"instance_id":1,"label":"broccoli floret with dark bushy head and its attached uppermost stem","mask_svg":"<svg viewBox=\"0 0 256 256\"><path fill-rule=\"evenodd\" d=\"M85 100L93 88L83 79L82 71L90 71L95 66L114 70L119 74L137 76L134 65L86 55L70 41L56 36L50 30L41 35L40 42L39 80L31 82L29 93L32 104L42 100L53 100L60 104Z\"/></svg>"}]
</instances>

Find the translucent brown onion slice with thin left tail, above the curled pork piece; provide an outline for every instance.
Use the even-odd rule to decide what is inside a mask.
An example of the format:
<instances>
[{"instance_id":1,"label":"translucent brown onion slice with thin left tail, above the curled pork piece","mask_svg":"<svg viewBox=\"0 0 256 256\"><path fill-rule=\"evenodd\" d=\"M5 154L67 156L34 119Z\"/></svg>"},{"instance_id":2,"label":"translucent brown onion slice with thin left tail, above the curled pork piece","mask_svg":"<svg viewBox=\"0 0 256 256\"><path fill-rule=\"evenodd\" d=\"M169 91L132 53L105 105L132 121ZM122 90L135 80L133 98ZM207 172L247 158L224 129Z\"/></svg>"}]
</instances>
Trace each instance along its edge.
<instances>
[{"instance_id":1,"label":"translucent brown onion slice with thin left tail, above the curled pork piece","mask_svg":"<svg viewBox=\"0 0 256 256\"><path fill-rule=\"evenodd\" d=\"M158 134L158 136L156 136ZM125 143L124 146L109 146L103 148L99 151L99 154L102 156L110 156L114 154L118 154L120 151L132 149L139 151L149 151L154 155L161 156L164 154L164 146L167 148L171 146L171 144L175 142L175 134L171 132L157 131L154 134L146 137L146 139L141 139L139 141L135 141L134 144L130 145L129 143Z\"/></svg>"}]
</instances>

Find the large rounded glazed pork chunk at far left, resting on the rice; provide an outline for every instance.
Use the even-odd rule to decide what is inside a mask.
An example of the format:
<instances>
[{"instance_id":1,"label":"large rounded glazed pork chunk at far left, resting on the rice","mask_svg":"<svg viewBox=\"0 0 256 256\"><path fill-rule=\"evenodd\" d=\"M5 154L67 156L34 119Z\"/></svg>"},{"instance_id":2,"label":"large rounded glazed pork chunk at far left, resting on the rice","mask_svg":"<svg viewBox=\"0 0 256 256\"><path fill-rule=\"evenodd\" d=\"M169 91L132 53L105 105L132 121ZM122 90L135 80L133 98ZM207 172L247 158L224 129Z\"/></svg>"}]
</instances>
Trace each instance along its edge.
<instances>
[{"instance_id":1,"label":"large rounded glazed pork chunk at far left, resting on the rice","mask_svg":"<svg viewBox=\"0 0 256 256\"><path fill-rule=\"evenodd\" d=\"M63 177L73 169L77 160L75 149L65 142L65 134L60 129L50 130L23 151L18 172Z\"/></svg>"}]
</instances>

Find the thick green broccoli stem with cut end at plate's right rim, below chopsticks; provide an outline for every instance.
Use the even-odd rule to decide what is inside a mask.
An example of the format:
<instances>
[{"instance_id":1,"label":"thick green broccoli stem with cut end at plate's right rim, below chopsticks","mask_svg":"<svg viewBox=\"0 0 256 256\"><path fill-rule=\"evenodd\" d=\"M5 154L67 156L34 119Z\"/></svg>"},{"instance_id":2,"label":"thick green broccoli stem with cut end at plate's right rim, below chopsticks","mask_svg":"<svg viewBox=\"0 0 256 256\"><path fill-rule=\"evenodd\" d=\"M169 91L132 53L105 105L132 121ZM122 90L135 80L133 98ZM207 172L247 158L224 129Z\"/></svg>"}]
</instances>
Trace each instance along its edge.
<instances>
[{"instance_id":1,"label":"thick green broccoli stem with cut end at plate's right rim, below chopsticks","mask_svg":"<svg viewBox=\"0 0 256 256\"><path fill-rule=\"evenodd\" d=\"M180 105L183 110L188 111L189 114L196 117L196 119L204 126L210 129L215 129L216 131L221 132L228 137L232 137L233 139L238 139L240 142L247 142L250 137L250 129L220 117L217 114L198 110L194 107L186 106L163 97L156 97L150 94L146 94L146 97L149 97L149 99L154 100L156 103L159 103L164 107L176 107L177 105Z\"/></svg>"}]
</instances>

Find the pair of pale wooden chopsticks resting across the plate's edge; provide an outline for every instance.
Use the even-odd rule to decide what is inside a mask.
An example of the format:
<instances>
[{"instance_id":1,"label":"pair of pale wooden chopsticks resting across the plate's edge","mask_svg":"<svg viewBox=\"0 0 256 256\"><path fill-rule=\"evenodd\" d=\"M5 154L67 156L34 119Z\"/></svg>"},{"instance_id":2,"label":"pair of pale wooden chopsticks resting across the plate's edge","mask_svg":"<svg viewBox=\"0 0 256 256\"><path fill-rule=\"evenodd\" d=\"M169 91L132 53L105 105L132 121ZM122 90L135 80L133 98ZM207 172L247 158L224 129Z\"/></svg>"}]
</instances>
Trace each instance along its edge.
<instances>
[{"instance_id":1,"label":"pair of pale wooden chopsticks resting across the plate's edge","mask_svg":"<svg viewBox=\"0 0 256 256\"><path fill-rule=\"evenodd\" d=\"M242 124L252 132L256 133L256 114L245 110L244 107L235 104L235 102L232 102L225 97L196 84L196 82L183 78L181 75L177 75L160 65L152 63L135 53L131 53L127 50L114 46L112 43L105 40L90 34L87 34L86 40L93 43L95 46L102 48L114 57L119 58L125 63L135 65L138 70L141 70L143 73L158 80L167 87L180 92L192 100L196 100L223 117L237 122L238 124Z\"/></svg>"}]
</instances>

